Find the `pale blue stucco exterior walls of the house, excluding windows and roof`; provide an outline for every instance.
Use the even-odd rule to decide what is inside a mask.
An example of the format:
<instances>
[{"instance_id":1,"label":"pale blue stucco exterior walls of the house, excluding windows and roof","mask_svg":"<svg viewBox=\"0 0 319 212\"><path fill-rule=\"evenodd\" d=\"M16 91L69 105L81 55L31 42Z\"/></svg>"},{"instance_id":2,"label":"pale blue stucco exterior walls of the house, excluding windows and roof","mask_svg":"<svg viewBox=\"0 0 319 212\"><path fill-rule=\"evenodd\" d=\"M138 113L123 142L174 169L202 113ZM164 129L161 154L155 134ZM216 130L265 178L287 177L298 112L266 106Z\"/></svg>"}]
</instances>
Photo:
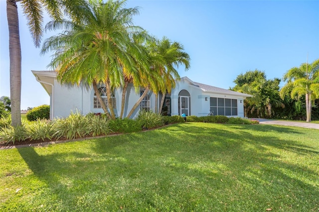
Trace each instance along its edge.
<instances>
[{"instance_id":1,"label":"pale blue stucco exterior walls of the house, excluding windows and roof","mask_svg":"<svg viewBox=\"0 0 319 212\"><path fill-rule=\"evenodd\" d=\"M56 80L54 81L54 98L51 96L51 107L53 105L53 117L67 117L71 111L80 111L82 114L89 112L103 112L102 108L94 108L93 88L86 88L82 85L67 86L60 85ZM190 94L190 111L189 115L206 116L210 112L210 97L237 99L237 116L244 117L244 98L235 95L216 94L212 92L203 92L200 88L190 85L187 80L179 81L171 93L171 115L178 115L178 94L181 90L186 90ZM121 113L122 89L118 89L114 93L116 98L115 114L117 117ZM149 92L151 110L155 111L156 96ZM126 94L126 105L124 108L124 117L130 112L131 108L139 100L140 93L136 93L133 85L129 85ZM205 100L207 98L207 101ZM240 101L242 103L240 103ZM160 104L160 98L158 100ZM159 107L158 107L159 108ZM134 118L140 110L140 106L134 111L131 118Z\"/></svg>"}]
</instances>

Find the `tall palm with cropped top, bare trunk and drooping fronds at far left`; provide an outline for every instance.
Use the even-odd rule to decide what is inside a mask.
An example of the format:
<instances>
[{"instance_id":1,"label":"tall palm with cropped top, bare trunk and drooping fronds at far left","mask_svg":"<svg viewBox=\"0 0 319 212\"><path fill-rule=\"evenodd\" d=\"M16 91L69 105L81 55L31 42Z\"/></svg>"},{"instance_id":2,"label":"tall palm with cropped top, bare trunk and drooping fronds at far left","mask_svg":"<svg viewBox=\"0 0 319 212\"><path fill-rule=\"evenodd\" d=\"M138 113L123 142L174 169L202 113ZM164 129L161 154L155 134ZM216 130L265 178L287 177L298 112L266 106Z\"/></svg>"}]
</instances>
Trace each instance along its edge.
<instances>
[{"instance_id":1,"label":"tall palm with cropped top, bare trunk and drooping fronds at far left","mask_svg":"<svg viewBox=\"0 0 319 212\"><path fill-rule=\"evenodd\" d=\"M10 57L10 99L11 125L21 124L21 45L17 2L21 3L23 13L28 20L34 44L39 47L43 35L43 11L51 18L61 19L63 12L72 17L78 14L74 8L84 4L84 0L6 0L6 14L9 28L9 57Z\"/></svg>"}]
</instances>

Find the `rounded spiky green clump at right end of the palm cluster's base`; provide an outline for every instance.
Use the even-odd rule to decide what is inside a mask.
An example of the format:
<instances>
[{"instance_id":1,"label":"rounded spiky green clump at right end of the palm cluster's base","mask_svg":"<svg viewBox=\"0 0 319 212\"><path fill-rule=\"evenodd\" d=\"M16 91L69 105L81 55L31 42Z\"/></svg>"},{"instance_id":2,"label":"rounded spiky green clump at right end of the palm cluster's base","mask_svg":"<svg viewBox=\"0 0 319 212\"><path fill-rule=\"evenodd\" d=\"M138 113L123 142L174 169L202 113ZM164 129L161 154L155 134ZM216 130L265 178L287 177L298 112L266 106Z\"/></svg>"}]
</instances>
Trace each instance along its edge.
<instances>
[{"instance_id":1,"label":"rounded spiky green clump at right end of the palm cluster's base","mask_svg":"<svg viewBox=\"0 0 319 212\"><path fill-rule=\"evenodd\" d=\"M162 115L153 111L140 110L136 117L136 120L140 122L141 126L146 129L160 127L164 125Z\"/></svg>"}]
</instances>

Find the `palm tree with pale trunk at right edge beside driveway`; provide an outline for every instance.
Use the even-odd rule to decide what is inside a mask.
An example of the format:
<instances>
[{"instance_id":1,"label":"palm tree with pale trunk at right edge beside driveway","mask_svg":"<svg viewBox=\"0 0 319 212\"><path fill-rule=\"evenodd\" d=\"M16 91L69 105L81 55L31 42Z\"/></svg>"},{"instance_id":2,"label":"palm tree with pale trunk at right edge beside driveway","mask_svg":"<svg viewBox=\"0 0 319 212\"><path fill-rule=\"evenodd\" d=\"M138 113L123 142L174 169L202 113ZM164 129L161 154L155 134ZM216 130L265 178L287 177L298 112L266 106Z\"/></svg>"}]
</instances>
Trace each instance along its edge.
<instances>
[{"instance_id":1,"label":"palm tree with pale trunk at right edge beside driveway","mask_svg":"<svg viewBox=\"0 0 319 212\"><path fill-rule=\"evenodd\" d=\"M313 63L301 64L289 69L283 77L287 84L280 90L282 99L289 94L291 98L300 98L306 95L307 122L311 121L312 103L319 98L319 59ZM292 88L292 89L291 89Z\"/></svg>"}]
</instances>

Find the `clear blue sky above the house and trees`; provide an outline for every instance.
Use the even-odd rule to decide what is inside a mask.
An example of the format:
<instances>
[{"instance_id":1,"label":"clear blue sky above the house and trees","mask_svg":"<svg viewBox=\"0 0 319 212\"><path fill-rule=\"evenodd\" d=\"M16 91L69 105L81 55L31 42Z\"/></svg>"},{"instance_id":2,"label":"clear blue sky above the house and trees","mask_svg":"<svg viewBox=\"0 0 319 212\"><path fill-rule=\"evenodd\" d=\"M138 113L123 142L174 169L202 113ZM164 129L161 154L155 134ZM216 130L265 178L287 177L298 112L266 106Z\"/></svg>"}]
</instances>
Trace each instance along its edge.
<instances>
[{"instance_id":1,"label":"clear blue sky above the house and trees","mask_svg":"<svg viewBox=\"0 0 319 212\"><path fill-rule=\"evenodd\" d=\"M0 0L0 96L9 96L6 2ZM311 0L128 0L140 7L134 17L158 38L183 44L191 68L181 77L228 89L248 70L282 78L292 67L319 58L319 1ZM20 5L18 5L20 8ZM46 20L47 21L47 20ZM21 109L49 104L31 70L49 70L50 54L40 56L19 9L22 49ZM45 38L55 34L45 35ZM281 83L283 86L284 83Z\"/></svg>"}]
</instances>

